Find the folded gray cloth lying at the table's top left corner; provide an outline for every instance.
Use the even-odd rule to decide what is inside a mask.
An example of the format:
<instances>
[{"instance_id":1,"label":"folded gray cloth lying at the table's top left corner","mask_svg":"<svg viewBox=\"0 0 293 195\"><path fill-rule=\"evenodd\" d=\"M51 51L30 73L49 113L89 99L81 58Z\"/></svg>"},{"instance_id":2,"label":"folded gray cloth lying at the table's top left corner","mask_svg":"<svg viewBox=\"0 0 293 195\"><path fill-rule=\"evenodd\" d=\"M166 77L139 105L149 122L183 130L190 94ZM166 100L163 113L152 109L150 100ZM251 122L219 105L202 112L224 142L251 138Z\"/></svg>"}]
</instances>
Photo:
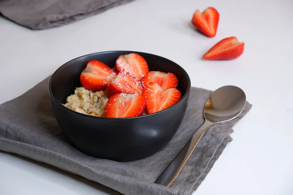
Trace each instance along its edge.
<instances>
[{"instance_id":1,"label":"folded gray cloth lying at the table's top left corner","mask_svg":"<svg viewBox=\"0 0 293 195\"><path fill-rule=\"evenodd\" d=\"M0 0L0 13L33 30L63 26L132 0Z\"/></svg>"}]
</instances>

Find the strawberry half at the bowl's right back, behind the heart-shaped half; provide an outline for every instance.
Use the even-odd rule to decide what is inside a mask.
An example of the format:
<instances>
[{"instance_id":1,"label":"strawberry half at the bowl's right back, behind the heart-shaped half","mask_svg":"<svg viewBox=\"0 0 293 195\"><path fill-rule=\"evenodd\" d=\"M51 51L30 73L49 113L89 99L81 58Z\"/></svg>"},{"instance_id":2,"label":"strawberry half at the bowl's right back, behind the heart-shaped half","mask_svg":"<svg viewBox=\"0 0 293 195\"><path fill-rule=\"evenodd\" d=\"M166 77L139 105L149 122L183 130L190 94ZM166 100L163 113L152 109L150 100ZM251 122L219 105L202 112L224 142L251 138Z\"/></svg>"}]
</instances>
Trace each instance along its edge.
<instances>
[{"instance_id":1,"label":"strawberry half at the bowl's right back, behind the heart-shaped half","mask_svg":"<svg viewBox=\"0 0 293 195\"><path fill-rule=\"evenodd\" d=\"M149 71L143 77L142 82L146 85L149 82L156 82L164 89L176 88L178 79L173 73L164 73L160 71Z\"/></svg>"}]
</instances>

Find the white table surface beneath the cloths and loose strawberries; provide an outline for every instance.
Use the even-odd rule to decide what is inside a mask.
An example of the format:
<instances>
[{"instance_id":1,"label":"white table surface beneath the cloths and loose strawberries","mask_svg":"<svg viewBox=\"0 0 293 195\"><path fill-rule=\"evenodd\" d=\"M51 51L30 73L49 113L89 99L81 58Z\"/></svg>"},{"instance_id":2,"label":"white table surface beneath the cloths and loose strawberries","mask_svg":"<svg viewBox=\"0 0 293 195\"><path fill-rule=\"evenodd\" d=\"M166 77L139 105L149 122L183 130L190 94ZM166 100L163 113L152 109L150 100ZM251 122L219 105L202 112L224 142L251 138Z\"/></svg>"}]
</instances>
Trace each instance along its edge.
<instances>
[{"instance_id":1,"label":"white table surface beneath the cloths and loose strawberries","mask_svg":"<svg viewBox=\"0 0 293 195\"><path fill-rule=\"evenodd\" d=\"M196 8L220 13L216 37L190 27ZM0 18L0 103L76 57L134 50L171 59L192 86L237 85L253 104L195 195L293 195L293 1L135 0L59 28L32 31ZM201 60L220 39L245 42L230 61ZM0 143L1 144L1 143ZM1 195L115 194L82 177L0 152ZM118 194L118 193L116 193Z\"/></svg>"}]
</instances>

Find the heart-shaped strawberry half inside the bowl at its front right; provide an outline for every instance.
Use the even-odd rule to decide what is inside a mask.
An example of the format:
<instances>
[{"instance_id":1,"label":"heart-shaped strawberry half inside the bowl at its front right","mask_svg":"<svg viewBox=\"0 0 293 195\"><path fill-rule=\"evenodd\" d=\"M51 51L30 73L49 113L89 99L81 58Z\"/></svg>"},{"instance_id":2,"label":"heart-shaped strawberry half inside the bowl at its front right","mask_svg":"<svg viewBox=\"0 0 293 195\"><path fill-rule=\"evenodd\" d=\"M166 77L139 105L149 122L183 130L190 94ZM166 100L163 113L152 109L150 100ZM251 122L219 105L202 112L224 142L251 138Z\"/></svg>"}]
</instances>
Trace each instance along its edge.
<instances>
[{"instance_id":1,"label":"heart-shaped strawberry half inside the bowl at its front right","mask_svg":"<svg viewBox=\"0 0 293 195\"><path fill-rule=\"evenodd\" d=\"M181 93L176 88L165 90L155 82L150 82L146 85L143 95L146 98L147 114L164 110L174 105L181 98Z\"/></svg>"}]
</instances>

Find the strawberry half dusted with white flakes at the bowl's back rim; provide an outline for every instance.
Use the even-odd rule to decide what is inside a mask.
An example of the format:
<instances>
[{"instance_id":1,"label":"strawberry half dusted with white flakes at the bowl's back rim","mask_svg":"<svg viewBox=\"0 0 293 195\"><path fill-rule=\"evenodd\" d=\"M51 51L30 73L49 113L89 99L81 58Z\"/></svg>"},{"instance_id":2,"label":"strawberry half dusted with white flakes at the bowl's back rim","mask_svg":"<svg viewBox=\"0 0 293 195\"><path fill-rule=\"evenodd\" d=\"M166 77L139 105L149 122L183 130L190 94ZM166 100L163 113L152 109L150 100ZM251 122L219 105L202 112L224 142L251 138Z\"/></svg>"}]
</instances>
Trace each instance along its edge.
<instances>
[{"instance_id":1,"label":"strawberry half dusted with white flakes at the bowl's back rim","mask_svg":"<svg viewBox=\"0 0 293 195\"><path fill-rule=\"evenodd\" d=\"M148 72L146 60L138 54L119 56L116 60L115 68L118 72L129 73L140 80Z\"/></svg>"}]
</instances>

